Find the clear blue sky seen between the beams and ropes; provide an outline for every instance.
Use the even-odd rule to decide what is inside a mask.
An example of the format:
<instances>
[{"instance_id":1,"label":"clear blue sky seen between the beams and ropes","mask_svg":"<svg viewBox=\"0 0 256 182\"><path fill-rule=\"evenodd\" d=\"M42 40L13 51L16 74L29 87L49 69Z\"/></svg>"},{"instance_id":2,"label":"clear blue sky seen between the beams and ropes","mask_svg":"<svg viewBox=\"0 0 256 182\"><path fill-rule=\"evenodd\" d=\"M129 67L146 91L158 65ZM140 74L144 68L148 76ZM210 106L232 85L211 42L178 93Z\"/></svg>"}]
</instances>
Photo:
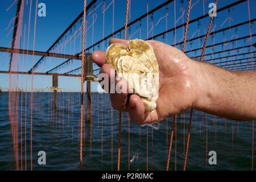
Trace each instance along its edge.
<instances>
[{"instance_id":1,"label":"clear blue sky seen between the beams and ropes","mask_svg":"<svg viewBox=\"0 0 256 182\"><path fill-rule=\"evenodd\" d=\"M6 0L6 1L0 1L0 47L10 47L10 43L13 36L13 22L10 23L11 19L15 16L16 11L16 2L15 0ZM20 46L19 48L25 48L27 47L27 27L28 27L28 16L29 16L29 5L30 0L28 0L28 5L26 5L27 0L24 0L24 14L23 14L23 23L22 23L22 34L20 36ZM90 1L88 0L88 3ZM153 9L154 7L160 5L163 3L164 0L154 1L154 0L148 0L148 10ZM190 19L194 19L198 16L203 15L204 13L208 13L209 11L209 3L214 2L213 0L192 0L192 9L191 9L191 16ZM228 5L229 3L235 2L234 0L226 0L226 1L218 1L217 7L222 7L225 5ZM8 11L7 9L14 3L14 6L11 7ZM39 17L37 16L36 20L36 35L35 35L35 50L36 51L46 51L53 42L60 36L60 34L69 26L69 24L76 18L77 15L79 15L82 11L83 7L83 1L82 0L39 0L38 3L45 3L46 4L46 17ZM111 3L111 5L110 5ZM187 1L185 0L182 4L182 1L176 0L176 25L185 22L185 16L187 14ZM34 37L34 18L35 18L35 6L36 1L32 1L32 14L31 14L31 27L30 27L30 40L28 42L28 49L33 48L33 37ZM109 6L110 5L110 6ZM182 5L184 7L184 12L182 9ZM89 47L92 45L93 42L97 42L98 40L102 39L103 36L107 36L109 34L112 34L113 31L113 23L114 23L114 31L118 28L122 27L124 25L124 19L125 19L125 6L126 6L126 0L115 0L114 1L114 16L113 16L113 3L112 0L106 0L105 1L105 8L108 7L108 10L105 11L105 23L103 24L103 3L102 0L98 0L96 2L96 5L93 8L88 10L87 14L87 27L88 31L86 32L86 45L85 47ZM250 0L250 11L251 11L251 19L256 18L256 13L253 9L253 7L256 7L256 1ZM166 9L167 8L167 9ZM142 14L146 13L147 11L147 0L131 0L131 12L129 15L129 21L136 19L138 16L141 16ZM168 13L167 19L166 12ZM229 16L230 15L230 16ZM204 18L200 20L200 26L198 26L199 22L191 23L189 24L189 31L188 31L188 39L192 37L196 37L199 35L203 35L205 31L207 31L208 23L209 23L209 17ZM94 21L93 21L94 20ZM167 20L167 24L166 24ZM220 13L217 12L217 18L214 18L214 24L212 26L212 29L214 30L220 30L221 28L228 27L229 25L237 24L240 22L244 22L248 20L248 10L247 10L247 2L243 2L240 5L237 5L235 7L232 7L230 9L230 14L228 10L222 11ZM94 23L93 23L94 22ZM9 26L10 23L10 26ZM230 24L229 24L230 23ZM154 27L152 28L152 24L154 24ZM26 26L26 31L24 31L24 27ZM67 33L66 36L64 36L63 40L61 40L61 43L64 43L65 41L68 41L65 46L61 44L62 46L57 47L55 50L52 50L52 52L57 53L66 53L70 55L74 55L77 52L81 51L81 34L79 31L80 27L80 21L76 24L76 27L73 27L71 31ZM139 28L141 27L141 34L139 34ZM153 16L148 16L148 30L150 33L148 34L148 37L152 35L156 35L160 32L163 32L167 28L174 27L174 2L169 3L166 7L163 7L162 9L159 9L156 11ZM104 31L104 32L103 32ZM75 34L76 32L76 34ZM252 32L255 34L255 25L252 24ZM25 33L25 34L24 34ZM75 35L74 35L75 34ZM141 26L139 22L135 23L133 26L128 28L127 36L131 36L131 38L141 38L146 39L147 33L146 33L146 18L141 20ZM176 42L182 41L184 35L184 28L179 28L176 31ZM214 36L210 36L208 40L208 44L210 45L213 42L223 42L224 40L230 40L236 38L240 38L242 36L249 35L249 25L245 24L245 26L238 27L238 29L235 31L233 28L232 30L225 31L225 33L221 32ZM72 36L72 38L71 38ZM114 37L119 38L119 34L114 35ZM123 32L121 34L121 37L123 37ZM25 41L23 41L25 40ZM167 42L168 44L174 43L174 34L173 32L170 32L166 36L161 36L158 39L162 42ZM106 49L106 46L108 46L108 41L104 42L103 44L100 44L99 46L94 47L94 49ZM192 42L192 44L187 44L187 51L189 49L194 49L197 47L201 47L202 41L204 39L195 40ZM253 38L253 43L255 42L255 37ZM207 49L206 53L210 53L211 51L221 51L222 49L229 49L232 47L240 47L243 45L248 45L250 42L248 40L241 40L229 44L226 44L225 46L217 46L212 49ZM177 48L180 48L179 46ZM93 49L90 49L89 52L92 52ZM247 52L248 49L241 50L243 52ZM254 48L255 51L255 48ZM214 55L215 57L222 57L222 56L228 56L229 54L232 55L237 52L224 52L221 55ZM242 53L242 52L240 52ZM191 52L188 55L189 56L195 56L199 55L200 51L197 52ZM237 59L242 58L237 57ZM10 61L10 54L9 53L0 53L0 69L7 71L9 69L9 61ZM40 59L40 56L34 57L34 63ZM209 57L205 57L205 59L209 59ZM27 60L27 64L26 64ZM35 72L46 72L49 69L55 67L56 65L59 65L65 61L65 59L56 59L47 57L44 61L42 61L42 64L39 65L38 68L35 69ZM219 61L219 60L215 60ZM224 61L224 60L222 60ZM32 56L22 56L22 55L16 55L15 56L15 69L18 69L19 71L26 71L29 70L32 67ZM73 60L70 61L69 64L65 65L63 68L57 70L58 73L65 73L68 71L71 71L72 69L79 68L81 66L81 61L79 60ZM96 69L97 67L94 66ZM80 72L77 72L80 73ZM77 74L76 73L76 74ZM17 80L16 80L17 79ZM47 86L52 85L52 77L51 76L34 76L34 88L46 88ZM13 82L11 87L18 86L19 88L25 88L27 83L27 88L31 88L31 76L27 77L26 82L26 76L20 75L20 76L13 76L11 77L11 81ZM60 88L64 88L64 91L75 91L79 92L80 90L80 80L74 77L59 77L59 86ZM1 88L9 88L9 75L7 74L0 74L0 87ZM96 91L97 83L93 83L92 90Z\"/></svg>"}]
</instances>

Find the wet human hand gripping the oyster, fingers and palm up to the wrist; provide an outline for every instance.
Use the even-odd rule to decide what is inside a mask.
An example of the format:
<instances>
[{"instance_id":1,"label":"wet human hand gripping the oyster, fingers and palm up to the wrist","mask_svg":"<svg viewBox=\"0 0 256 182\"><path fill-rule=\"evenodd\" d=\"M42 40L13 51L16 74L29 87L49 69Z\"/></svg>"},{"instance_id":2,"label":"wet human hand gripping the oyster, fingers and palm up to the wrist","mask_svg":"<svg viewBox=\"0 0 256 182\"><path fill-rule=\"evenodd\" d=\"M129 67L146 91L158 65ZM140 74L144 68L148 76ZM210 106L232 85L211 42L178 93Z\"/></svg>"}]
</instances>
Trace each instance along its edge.
<instances>
[{"instance_id":1,"label":"wet human hand gripping the oyster, fingers and palm up to the wrist","mask_svg":"<svg viewBox=\"0 0 256 182\"><path fill-rule=\"evenodd\" d=\"M154 48L159 64L159 97L156 110L145 112L144 104L136 94L110 93L113 108L128 111L131 120L138 124L161 121L169 115L178 114L192 107L198 94L196 61L192 61L179 49L167 44L154 40L147 42ZM122 43L128 46L128 41L122 39L111 39L109 43ZM94 51L92 59L101 67L101 73L106 73L110 78L110 69L113 68L106 64L105 52ZM118 84L118 81L115 81L115 84Z\"/></svg>"}]
</instances>

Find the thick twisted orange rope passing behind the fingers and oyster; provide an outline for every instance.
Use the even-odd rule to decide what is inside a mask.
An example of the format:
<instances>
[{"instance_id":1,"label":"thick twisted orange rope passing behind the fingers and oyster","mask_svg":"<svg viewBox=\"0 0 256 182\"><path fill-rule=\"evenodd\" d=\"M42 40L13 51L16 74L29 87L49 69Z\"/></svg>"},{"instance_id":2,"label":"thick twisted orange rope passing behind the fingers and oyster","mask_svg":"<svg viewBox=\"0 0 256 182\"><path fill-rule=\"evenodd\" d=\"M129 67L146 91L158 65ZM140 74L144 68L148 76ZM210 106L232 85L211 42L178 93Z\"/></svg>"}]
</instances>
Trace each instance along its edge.
<instances>
[{"instance_id":1,"label":"thick twisted orange rope passing behind the fingers and oyster","mask_svg":"<svg viewBox=\"0 0 256 182\"><path fill-rule=\"evenodd\" d=\"M125 32L123 39L126 40L127 34L127 24L128 24L128 15L129 15L129 4L130 0L126 2L126 16L125 16ZM118 156L117 156L117 171L120 170L120 157L121 157L121 127L122 127L122 110L119 111L119 130L118 130Z\"/></svg>"}]
</instances>

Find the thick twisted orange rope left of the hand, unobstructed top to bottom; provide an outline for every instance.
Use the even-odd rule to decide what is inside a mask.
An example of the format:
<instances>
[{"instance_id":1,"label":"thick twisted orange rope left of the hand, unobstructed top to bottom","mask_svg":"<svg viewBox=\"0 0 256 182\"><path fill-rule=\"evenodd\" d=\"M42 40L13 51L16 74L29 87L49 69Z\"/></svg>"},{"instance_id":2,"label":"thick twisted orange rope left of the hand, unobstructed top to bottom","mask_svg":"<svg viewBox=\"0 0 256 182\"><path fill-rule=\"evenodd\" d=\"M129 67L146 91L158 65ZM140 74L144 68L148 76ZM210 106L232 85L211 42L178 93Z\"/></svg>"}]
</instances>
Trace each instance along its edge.
<instances>
[{"instance_id":1,"label":"thick twisted orange rope left of the hand, unobstructed top to bottom","mask_svg":"<svg viewBox=\"0 0 256 182\"><path fill-rule=\"evenodd\" d=\"M85 64L85 22L86 0L84 0L84 17L82 20L82 75L81 75L81 120L80 120L80 170L82 169L82 127L84 122L84 64Z\"/></svg>"}]
</instances>

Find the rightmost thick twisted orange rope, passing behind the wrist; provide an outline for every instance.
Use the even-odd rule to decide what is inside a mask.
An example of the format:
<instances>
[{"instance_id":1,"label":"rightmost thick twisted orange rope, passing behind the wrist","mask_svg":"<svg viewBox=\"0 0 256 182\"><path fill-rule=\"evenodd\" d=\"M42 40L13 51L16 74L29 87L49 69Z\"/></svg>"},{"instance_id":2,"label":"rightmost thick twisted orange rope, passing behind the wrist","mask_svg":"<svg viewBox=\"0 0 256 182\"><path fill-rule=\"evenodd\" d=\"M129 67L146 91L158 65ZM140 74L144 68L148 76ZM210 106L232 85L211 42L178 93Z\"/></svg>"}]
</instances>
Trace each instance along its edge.
<instances>
[{"instance_id":1,"label":"rightmost thick twisted orange rope, passing behind the wrist","mask_svg":"<svg viewBox=\"0 0 256 182\"><path fill-rule=\"evenodd\" d=\"M215 0L215 5L217 5L217 2L218 2L218 0ZM214 9L213 11L216 11L216 10ZM214 14L214 12L213 12L213 14ZM202 61L203 57L204 57L204 51L205 51L207 40L208 40L208 37L210 34L210 27L212 26L213 17L214 17L213 15L210 16L210 22L209 22L209 26L208 26L207 35L205 36L204 46L202 48L200 61ZM190 139L190 135L191 135L192 118L193 118L193 109L191 109L191 111L190 111L189 127L188 127L188 135L187 135L187 146L185 148L185 159L184 159L184 164L183 164L183 171L185 171L186 166L187 166L187 156L188 156L189 139Z\"/></svg>"}]
</instances>

